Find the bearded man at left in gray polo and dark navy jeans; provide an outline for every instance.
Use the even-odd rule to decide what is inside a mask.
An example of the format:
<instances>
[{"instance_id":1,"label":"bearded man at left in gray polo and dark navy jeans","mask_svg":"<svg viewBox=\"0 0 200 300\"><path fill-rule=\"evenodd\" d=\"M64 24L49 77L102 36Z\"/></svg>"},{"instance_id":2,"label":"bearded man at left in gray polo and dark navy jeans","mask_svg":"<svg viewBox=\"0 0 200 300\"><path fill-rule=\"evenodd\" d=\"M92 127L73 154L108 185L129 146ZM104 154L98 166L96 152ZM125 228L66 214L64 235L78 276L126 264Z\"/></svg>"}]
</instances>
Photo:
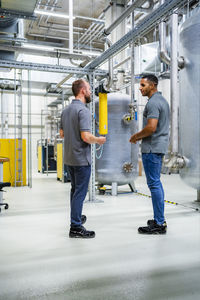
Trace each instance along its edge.
<instances>
[{"instance_id":1,"label":"bearded man at left in gray polo and dark navy jeans","mask_svg":"<svg viewBox=\"0 0 200 300\"><path fill-rule=\"evenodd\" d=\"M74 238L93 238L94 231L83 227L86 216L82 215L83 201L88 190L91 173L90 144L102 145L105 137L91 134L90 111L86 103L91 101L89 83L83 79L73 82L75 99L61 115L60 136L64 138L64 163L68 166L71 178L71 226L69 236Z\"/></svg>"}]
</instances>

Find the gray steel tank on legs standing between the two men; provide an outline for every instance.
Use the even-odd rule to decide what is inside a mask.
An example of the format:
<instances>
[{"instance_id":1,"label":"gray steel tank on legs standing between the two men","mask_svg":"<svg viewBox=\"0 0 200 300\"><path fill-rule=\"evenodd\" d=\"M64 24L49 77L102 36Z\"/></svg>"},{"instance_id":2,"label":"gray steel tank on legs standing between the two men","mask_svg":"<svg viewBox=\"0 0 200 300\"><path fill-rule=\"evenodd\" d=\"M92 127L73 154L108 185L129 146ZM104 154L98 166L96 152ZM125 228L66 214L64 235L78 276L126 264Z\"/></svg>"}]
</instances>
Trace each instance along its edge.
<instances>
[{"instance_id":1,"label":"gray steel tank on legs standing between the two men","mask_svg":"<svg viewBox=\"0 0 200 300\"><path fill-rule=\"evenodd\" d=\"M127 121L129 104L130 96L128 95L108 94L107 140L103 145L101 157L96 158L96 180L99 183L132 184L138 175L138 145L129 142L130 136L137 132L137 121ZM98 101L95 103L95 111L98 123ZM98 125L96 125L96 130L98 132ZM100 156L99 151L97 155Z\"/></svg>"}]
</instances>

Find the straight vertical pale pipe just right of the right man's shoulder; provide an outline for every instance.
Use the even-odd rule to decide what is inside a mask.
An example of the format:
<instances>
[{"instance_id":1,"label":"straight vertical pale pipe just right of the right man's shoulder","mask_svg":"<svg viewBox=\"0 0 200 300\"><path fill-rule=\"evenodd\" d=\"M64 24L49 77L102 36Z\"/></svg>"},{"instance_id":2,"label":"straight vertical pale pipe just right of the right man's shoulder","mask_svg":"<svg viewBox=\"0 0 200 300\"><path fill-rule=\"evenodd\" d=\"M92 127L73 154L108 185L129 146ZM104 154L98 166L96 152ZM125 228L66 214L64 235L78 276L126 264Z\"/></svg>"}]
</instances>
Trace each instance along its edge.
<instances>
[{"instance_id":1,"label":"straight vertical pale pipe just right of the right man's shoulder","mask_svg":"<svg viewBox=\"0 0 200 300\"><path fill-rule=\"evenodd\" d=\"M171 16L171 150L178 153L178 15Z\"/></svg>"}]
</instances>

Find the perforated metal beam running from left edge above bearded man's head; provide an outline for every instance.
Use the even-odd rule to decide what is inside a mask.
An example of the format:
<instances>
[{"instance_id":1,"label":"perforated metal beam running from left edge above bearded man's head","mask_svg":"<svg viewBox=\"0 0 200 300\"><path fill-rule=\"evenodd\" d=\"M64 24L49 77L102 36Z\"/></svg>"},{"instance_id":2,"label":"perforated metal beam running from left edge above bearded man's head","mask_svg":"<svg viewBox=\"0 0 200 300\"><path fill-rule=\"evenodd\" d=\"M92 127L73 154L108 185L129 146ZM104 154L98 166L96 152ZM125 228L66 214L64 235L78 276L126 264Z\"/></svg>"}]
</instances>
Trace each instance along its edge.
<instances>
[{"instance_id":1,"label":"perforated metal beam running from left edge above bearded man's head","mask_svg":"<svg viewBox=\"0 0 200 300\"><path fill-rule=\"evenodd\" d=\"M36 64L30 62L10 61L10 60L0 60L0 67L43 71L43 72L81 74L81 75L88 75L88 73L92 72L92 70L88 70L84 68L68 67L68 66L61 66L61 65ZM107 71L96 70L95 74L98 76L106 76Z\"/></svg>"}]
</instances>

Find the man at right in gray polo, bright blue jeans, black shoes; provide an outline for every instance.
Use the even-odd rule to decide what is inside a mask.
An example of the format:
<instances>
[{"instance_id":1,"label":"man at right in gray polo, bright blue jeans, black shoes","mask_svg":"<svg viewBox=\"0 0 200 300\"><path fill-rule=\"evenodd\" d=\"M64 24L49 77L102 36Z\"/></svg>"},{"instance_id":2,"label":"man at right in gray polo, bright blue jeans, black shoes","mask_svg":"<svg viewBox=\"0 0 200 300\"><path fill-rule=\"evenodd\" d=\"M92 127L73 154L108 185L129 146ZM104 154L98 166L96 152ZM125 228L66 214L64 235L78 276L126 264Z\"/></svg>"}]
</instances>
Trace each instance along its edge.
<instances>
[{"instance_id":1,"label":"man at right in gray polo, bright blue jeans, black shoes","mask_svg":"<svg viewBox=\"0 0 200 300\"><path fill-rule=\"evenodd\" d=\"M143 129L132 135L131 143L142 140L142 162L151 191L154 219L147 221L147 226L139 227L144 234L166 233L167 224L164 217L164 190L160 181L162 158L168 149L169 140L169 104L157 91L158 78L143 75L140 81L142 96L148 97L143 112Z\"/></svg>"}]
</instances>

